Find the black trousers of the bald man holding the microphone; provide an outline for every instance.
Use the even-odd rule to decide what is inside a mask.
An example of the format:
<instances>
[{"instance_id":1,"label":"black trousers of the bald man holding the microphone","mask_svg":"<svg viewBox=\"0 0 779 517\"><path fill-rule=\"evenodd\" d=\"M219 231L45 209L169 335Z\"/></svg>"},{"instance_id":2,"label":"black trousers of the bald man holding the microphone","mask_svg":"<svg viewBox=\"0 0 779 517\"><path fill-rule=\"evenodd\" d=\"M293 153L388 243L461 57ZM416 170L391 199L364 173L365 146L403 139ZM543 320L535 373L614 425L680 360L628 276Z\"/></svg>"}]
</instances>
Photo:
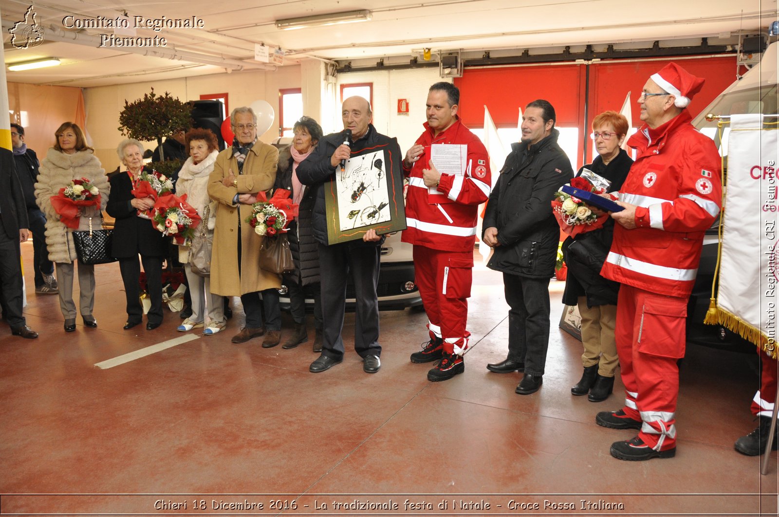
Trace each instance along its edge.
<instances>
[{"instance_id":1,"label":"black trousers of the bald man holding the microphone","mask_svg":"<svg viewBox=\"0 0 779 517\"><path fill-rule=\"evenodd\" d=\"M356 245L355 245L356 244ZM347 275L351 273L354 297L354 350L360 357L379 356L379 283L380 246L361 242L344 242L325 246L319 244L319 270L322 272L323 355L332 359L344 357L344 311L346 308Z\"/></svg>"}]
</instances>

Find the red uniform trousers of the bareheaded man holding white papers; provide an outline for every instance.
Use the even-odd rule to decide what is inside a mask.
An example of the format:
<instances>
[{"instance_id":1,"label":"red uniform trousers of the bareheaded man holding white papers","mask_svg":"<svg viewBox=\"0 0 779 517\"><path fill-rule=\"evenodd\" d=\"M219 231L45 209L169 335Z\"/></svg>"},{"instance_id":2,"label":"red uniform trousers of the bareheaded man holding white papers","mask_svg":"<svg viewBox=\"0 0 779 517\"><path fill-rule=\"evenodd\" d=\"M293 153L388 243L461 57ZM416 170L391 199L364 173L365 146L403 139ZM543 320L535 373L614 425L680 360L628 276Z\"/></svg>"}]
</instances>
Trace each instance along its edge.
<instances>
[{"instance_id":1,"label":"red uniform trousers of the bareheaded man holding white papers","mask_svg":"<svg viewBox=\"0 0 779 517\"><path fill-rule=\"evenodd\" d=\"M462 355L471 332L465 329L471 297L472 251L439 251L414 245L414 278L428 315L428 329L443 339L446 353Z\"/></svg>"}]
</instances>

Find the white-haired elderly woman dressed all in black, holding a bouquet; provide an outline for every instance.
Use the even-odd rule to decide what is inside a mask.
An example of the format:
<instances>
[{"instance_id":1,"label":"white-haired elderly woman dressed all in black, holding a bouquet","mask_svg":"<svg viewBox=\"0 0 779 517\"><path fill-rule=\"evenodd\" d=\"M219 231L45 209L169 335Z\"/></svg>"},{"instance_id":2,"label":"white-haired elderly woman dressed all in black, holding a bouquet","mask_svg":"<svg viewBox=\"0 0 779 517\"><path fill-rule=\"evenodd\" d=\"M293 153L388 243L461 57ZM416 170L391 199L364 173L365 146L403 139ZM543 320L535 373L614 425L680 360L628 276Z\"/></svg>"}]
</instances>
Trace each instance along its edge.
<instances>
[{"instance_id":1,"label":"white-haired elderly woman dressed all in black, holding a bouquet","mask_svg":"<svg viewBox=\"0 0 779 517\"><path fill-rule=\"evenodd\" d=\"M132 189L144 169L141 142L136 139L122 140L116 153L127 171L111 178L111 197L108 198L105 210L116 219L111 252L119 259L119 271L125 284L127 322L124 328L132 329L143 321L143 306L139 300L140 254L146 273L146 291L151 301L146 330L153 330L162 324L163 318L162 262L167 256L167 241L150 220L138 216L138 210L152 208L154 200L138 199L132 195Z\"/></svg>"}]
</instances>

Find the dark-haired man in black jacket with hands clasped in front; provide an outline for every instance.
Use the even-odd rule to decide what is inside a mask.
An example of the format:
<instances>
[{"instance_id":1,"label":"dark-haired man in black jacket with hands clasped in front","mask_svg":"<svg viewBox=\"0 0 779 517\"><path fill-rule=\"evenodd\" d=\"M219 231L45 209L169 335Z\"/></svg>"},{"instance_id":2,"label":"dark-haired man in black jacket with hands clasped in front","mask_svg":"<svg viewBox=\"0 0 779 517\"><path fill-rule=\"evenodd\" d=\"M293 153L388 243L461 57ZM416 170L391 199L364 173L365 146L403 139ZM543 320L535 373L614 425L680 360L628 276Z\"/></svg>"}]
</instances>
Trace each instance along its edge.
<instances>
[{"instance_id":1,"label":"dark-haired man in black jacket with hands clasped in front","mask_svg":"<svg viewBox=\"0 0 779 517\"><path fill-rule=\"evenodd\" d=\"M509 355L489 371L523 371L516 392L541 387L549 345L549 279L555 272L559 226L552 198L573 178L557 144L555 108L534 100L522 115L522 139L512 145L489 196L482 240L492 247L488 267L502 271L509 304Z\"/></svg>"}]
</instances>

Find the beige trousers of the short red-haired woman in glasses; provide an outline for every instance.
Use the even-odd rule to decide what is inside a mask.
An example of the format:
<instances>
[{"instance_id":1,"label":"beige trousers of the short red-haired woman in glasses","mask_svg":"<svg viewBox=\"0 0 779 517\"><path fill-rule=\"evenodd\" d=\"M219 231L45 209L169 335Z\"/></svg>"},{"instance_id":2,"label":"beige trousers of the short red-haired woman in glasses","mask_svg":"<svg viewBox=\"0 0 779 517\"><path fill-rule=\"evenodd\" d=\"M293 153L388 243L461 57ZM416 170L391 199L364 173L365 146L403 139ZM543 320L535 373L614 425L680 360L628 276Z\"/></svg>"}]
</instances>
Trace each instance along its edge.
<instances>
[{"instance_id":1,"label":"beige trousers of the short red-haired woman in glasses","mask_svg":"<svg viewBox=\"0 0 779 517\"><path fill-rule=\"evenodd\" d=\"M614 339L614 327L617 322L616 305L597 305L587 307L587 297L578 300L579 314L582 317L582 365L584 368L599 364L597 373L602 377L614 377L619 366L617 343Z\"/></svg>"}]
</instances>

